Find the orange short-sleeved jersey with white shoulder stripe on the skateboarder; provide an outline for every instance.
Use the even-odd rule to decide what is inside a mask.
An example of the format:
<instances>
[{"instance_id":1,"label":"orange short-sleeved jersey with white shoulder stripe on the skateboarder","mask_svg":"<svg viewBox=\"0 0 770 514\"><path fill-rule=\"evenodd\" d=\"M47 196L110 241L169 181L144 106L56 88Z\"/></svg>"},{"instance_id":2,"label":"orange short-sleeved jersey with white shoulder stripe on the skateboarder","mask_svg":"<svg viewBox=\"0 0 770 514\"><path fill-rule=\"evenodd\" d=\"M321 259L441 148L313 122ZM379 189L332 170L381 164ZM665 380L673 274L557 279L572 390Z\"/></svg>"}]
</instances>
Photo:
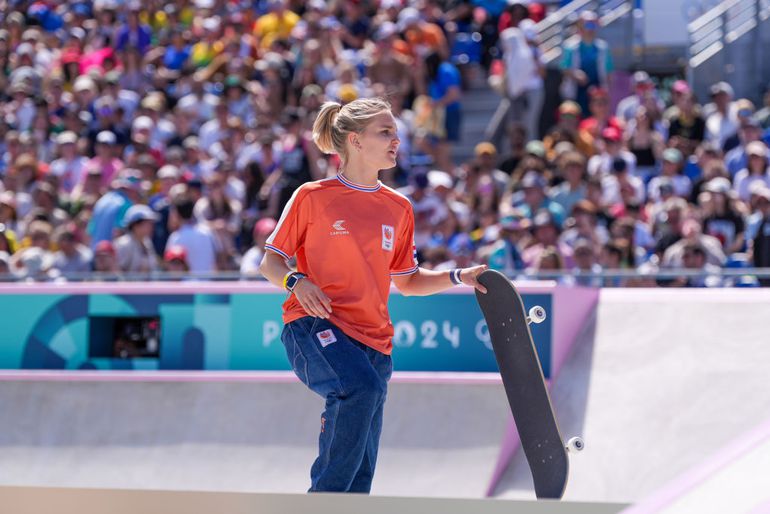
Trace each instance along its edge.
<instances>
[{"instance_id":1,"label":"orange short-sleeved jersey with white shoulder stripe on the skateboarder","mask_svg":"<svg viewBox=\"0 0 770 514\"><path fill-rule=\"evenodd\" d=\"M308 182L292 196L265 248L297 258L304 273L332 301L330 321L385 354L393 350L388 314L390 277L417 271L414 213L393 189L354 184L342 175ZM283 321L308 314L294 295Z\"/></svg>"}]
</instances>

